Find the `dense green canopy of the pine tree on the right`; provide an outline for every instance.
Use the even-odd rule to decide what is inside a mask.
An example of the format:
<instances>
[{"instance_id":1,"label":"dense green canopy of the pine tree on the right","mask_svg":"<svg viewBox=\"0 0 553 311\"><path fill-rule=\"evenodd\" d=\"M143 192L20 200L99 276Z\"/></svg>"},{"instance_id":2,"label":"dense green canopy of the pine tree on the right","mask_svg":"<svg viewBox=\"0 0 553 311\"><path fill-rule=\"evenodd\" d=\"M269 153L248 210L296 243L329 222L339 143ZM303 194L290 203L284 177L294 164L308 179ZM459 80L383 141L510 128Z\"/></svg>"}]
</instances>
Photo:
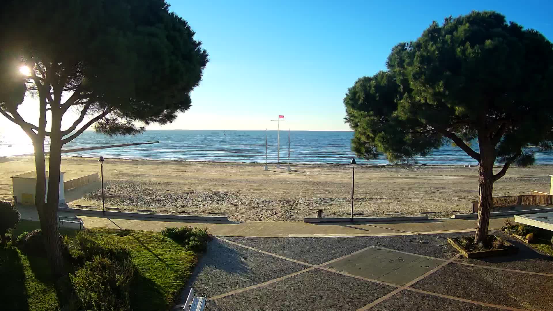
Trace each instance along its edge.
<instances>
[{"instance_id":1,"label":"dense green canopy of the pine tree on the right","mask_svg":"<svg viewBox=\"0 0 553 311\"><path fill-rule=\"evenodd\" d=\"M434 22L394 46L386 66L344 99L353 151L364 158L384 152L401 162L452 141L480 160L469 142L478 138L482 149L484 138L494 159L526 166L534 162L528 144L552 146L551 42L502 14Z\"/></svg>"}]
</instances>

